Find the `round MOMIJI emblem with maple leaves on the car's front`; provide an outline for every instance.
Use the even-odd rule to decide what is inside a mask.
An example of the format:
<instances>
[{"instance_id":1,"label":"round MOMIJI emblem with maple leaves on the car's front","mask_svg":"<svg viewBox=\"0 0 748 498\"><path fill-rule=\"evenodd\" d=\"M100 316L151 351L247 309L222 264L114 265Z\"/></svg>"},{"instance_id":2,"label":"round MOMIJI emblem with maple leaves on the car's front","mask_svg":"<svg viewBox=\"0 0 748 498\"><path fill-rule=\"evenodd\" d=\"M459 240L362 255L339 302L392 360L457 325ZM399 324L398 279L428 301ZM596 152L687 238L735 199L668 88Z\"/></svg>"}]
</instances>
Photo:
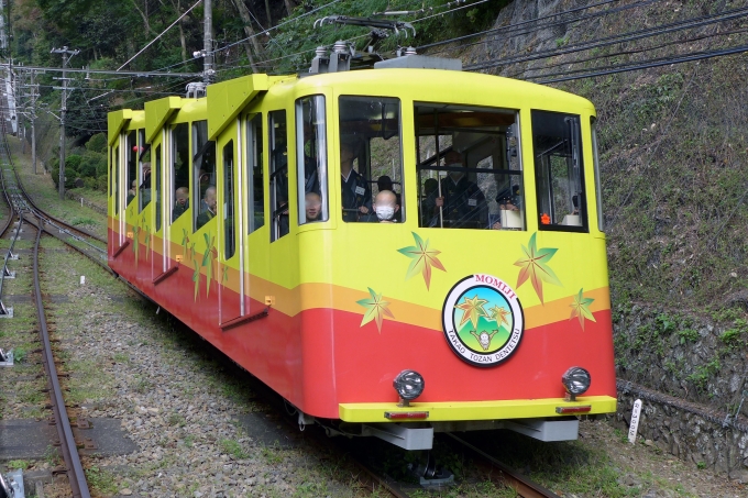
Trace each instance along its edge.
<instances>
[{"instance_id":1,"label":"round MOMIJI emblem with maple leaves on the car's front","mask_svg":"<svg viewBox=\"0 0 748 498\"><path fill-rule=\"evenodd\" d=\"M452 351L475 366L494 366L519 346L525 330L515 291L493 275L476 274L458 281L442 310L444 337Z\"/></svg>"}]
</instances>

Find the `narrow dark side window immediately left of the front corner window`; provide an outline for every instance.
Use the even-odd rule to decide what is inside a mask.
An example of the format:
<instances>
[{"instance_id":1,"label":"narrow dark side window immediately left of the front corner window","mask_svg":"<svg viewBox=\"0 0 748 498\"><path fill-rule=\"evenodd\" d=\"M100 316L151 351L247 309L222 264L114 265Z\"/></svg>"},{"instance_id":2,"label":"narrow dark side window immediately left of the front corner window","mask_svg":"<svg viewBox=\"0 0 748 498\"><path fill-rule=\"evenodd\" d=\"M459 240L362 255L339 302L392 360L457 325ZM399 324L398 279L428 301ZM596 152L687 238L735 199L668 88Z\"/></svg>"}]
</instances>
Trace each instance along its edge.
<instances>
[{"instance_id":1,"label":"narrow dark side window immediately left of the front corner window","mask_svg":"<svg viewBox=\"0 0 748 498\"><path fill-rule=\"evenodd\" d=\"M288 233L288 150L286 111L268 114L271 132L271 242Z\"/></svg>"}]
</instances>

